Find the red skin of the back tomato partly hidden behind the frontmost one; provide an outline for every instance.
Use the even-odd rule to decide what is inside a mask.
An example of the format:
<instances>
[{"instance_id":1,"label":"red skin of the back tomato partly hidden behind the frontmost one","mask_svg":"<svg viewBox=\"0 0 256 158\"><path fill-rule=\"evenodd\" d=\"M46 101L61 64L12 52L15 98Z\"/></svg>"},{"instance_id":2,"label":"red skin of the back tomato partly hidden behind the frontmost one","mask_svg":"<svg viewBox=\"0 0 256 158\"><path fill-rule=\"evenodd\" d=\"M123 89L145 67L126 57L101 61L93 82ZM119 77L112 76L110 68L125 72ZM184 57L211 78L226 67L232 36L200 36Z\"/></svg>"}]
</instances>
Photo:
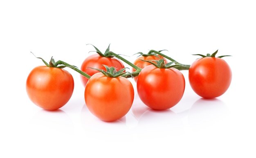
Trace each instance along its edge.
<instances>
[{"instance_id":1,"label":"red skin of the back tomato partly hidden behind the frontmost one","mask_svg":"<svg viewBox=\"0 0 256 158\"><path fill-rule=\"evenodd\" d=\"M87 73L88 75L92 76L94 73L99 72L98 70L91 69L103 69L106 71L106 68L102 65L107 65L108 67L115 67L117 71L124 68L124 64L117 58L107 58L101 57L99 54L93 54L88 56L81 65L81 71ZM88 78L80 75L81 82L85 87L86 83L88 82Z\"/></svg>"}]
</instances>

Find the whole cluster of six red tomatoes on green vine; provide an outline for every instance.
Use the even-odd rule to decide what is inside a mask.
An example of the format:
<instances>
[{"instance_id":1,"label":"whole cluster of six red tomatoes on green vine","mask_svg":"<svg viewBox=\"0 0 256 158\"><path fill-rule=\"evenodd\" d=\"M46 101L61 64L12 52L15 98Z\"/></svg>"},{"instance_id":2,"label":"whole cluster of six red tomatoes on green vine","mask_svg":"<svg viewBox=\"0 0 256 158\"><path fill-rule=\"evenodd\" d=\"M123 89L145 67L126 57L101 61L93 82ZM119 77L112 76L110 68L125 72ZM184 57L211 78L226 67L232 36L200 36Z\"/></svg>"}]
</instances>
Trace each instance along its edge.
<instances>
[{"instance_id":1,"label":"whole cluster of six red tomatoes on green vine","mask_svg":"<svg viewBox=\"0 0 256 158\"><path fill-rule=\"evenodd\" d=\"M55 62L53 58L48 64L40 58L45 66L35 67L27 77L29 99L46 110L63 107L74 90L74 79L64 67L80 73L86 106L103 121L115 121L130 110L134 99L130 77L136 82L141 101L156 110L169 109L182 99L185 79L180 70L189 71L193 91L203 98L221 96L231 83L231 69L222 59L224 56L215 57L218 50L207 56L195 54L202 58L191 65L183 65L162 51L139 53L140 56L131 63L110 51L109 46L105 53L94 48L97 53L88 56L81 69L61 60ZM132 67L131 72L126 71L123 62Z\"/></svg>"}]
</instances>

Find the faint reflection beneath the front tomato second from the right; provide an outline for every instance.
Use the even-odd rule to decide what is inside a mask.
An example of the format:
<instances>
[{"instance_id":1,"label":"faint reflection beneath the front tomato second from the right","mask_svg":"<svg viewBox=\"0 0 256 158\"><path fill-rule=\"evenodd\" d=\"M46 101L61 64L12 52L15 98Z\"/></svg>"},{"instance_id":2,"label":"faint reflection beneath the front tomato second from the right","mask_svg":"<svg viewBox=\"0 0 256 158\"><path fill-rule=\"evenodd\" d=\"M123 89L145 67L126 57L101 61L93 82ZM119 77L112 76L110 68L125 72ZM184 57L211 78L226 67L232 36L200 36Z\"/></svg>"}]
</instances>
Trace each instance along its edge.
<instances>
[{"instance_id":1,"label":"faint reflection beneath the front tomato second from the right","mask_svg":"<svg viewBox=\"0 0 256 158\"><path fill-rule=\"evenodd\" d=\"M132 114L137 119L137 134L139 137L162 134L179 134L183 130L182 118L171 109L155 110L146 106L139 96L135 96Z\"/></svg>"}]
</instances>

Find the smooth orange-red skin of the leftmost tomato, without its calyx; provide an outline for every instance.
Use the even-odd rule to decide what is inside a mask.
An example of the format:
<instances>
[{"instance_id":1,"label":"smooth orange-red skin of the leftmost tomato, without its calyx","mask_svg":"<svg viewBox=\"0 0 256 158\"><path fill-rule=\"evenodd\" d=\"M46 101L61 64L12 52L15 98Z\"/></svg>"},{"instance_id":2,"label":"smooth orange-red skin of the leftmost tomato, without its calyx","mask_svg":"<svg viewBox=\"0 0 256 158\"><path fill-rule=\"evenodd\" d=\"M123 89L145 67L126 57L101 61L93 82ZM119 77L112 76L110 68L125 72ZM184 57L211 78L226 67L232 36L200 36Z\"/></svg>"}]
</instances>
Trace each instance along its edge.
<instances>
[{"instance_id":1,"label":"smooth orange-red skin of the leftmost tomato, without its calyx","mask_svg":"<svg viewBox=\"0 0 256 158\"><path fill-rule=\"evenodd\" d=\"M72 75L63 69L38 66L27 77L26 91L29 99L45 110L63 107L74 91Z\"/></svg>"}]
</instances>

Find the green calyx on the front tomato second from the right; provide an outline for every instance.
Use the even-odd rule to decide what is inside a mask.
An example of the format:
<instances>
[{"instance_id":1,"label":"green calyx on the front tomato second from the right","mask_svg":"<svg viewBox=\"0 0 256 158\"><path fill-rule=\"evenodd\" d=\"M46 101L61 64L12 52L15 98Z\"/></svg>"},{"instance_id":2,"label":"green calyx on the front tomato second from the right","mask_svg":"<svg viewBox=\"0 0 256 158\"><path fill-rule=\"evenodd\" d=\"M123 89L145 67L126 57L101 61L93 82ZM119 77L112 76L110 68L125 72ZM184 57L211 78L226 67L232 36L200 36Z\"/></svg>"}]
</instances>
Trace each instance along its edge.
<instances>
[{"instance_id":1,"label":"green calyx on the front tomato second from the right","mask_svg":"<svg viewBox=\"0 0 256 158\"><path fill-rule=\"evenodd\" d=\"M140 59L141 60L141 59ZM164 63L164 59L159 60L142 60L145 62L149 62L150 64L154 65L155 67L159 69L169 69L171 67L176 68L178 70L186 70L189 69L189 67L182 65L178 62L168 62L167 64Z\"/></svg>"}]
</instances>

